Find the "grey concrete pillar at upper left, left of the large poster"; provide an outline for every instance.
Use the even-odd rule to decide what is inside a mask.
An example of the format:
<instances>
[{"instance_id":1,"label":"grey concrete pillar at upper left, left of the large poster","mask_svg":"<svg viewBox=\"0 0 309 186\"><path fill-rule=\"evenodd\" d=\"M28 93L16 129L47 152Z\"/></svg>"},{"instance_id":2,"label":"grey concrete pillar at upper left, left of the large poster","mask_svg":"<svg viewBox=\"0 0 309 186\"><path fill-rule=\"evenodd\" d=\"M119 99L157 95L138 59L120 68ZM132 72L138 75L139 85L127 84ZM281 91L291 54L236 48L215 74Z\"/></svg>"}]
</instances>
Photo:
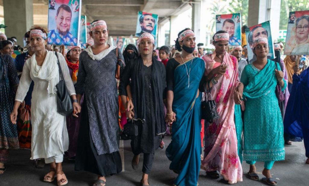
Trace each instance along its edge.
<instances>
[{"instance_id":1,"label":"grey concrete pillar at upper left, left of the large poster","mask_svg":"<svg viewBox=\"0 0 309 186\"><path fill-rule=\"evenodd\" d=\"M15 36L23 46L23 36L33 26L33 1L3 0L3 9L6 36Z\"/></svg>"}]
</instances>

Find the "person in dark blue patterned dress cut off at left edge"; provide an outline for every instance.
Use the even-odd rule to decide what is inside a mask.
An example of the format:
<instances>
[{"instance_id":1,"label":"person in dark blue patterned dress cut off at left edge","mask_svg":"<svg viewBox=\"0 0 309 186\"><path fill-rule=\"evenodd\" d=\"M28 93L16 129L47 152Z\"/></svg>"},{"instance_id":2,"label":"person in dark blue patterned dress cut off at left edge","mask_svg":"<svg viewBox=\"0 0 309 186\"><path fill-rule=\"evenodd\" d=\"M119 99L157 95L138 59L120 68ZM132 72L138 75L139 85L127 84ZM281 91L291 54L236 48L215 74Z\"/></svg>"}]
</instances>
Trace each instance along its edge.
<instances>
[{"instance_id":1,"label":"person in dark blue patterned dress cut off at left edge","mask_svg":"<svg viewBox=\"0 0 309 186\"><path fill-rule=\"evenodd\" d=\"M3 41L2 41L3 42ZM11 123L9 115L13 110L14 97L19 83L13 58L0 55L0 175L6 170L4 164L9 149L19 149L16 123Z\"/></svg>"}]
</instances>

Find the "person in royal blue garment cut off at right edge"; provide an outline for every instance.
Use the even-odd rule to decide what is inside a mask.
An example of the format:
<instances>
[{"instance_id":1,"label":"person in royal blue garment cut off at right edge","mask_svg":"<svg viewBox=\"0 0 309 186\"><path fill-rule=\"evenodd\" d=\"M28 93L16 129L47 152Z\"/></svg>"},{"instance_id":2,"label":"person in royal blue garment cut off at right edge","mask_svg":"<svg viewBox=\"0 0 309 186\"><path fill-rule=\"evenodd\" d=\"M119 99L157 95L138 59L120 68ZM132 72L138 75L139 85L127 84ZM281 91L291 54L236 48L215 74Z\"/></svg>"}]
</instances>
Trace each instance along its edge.
<instances>
[{"instance_id":1,"label":"person in royal blue garment cut off at right edge","mask_svg":"<svg viewBox=\"0 0 309 186\"><path fill-rule=\"evenodd\" d=\"M294 67L293 88L286 106L284 132L303 137L306 163L309 164L309 68L298 75L299 67Z\"/></svg>"}]
</instances>

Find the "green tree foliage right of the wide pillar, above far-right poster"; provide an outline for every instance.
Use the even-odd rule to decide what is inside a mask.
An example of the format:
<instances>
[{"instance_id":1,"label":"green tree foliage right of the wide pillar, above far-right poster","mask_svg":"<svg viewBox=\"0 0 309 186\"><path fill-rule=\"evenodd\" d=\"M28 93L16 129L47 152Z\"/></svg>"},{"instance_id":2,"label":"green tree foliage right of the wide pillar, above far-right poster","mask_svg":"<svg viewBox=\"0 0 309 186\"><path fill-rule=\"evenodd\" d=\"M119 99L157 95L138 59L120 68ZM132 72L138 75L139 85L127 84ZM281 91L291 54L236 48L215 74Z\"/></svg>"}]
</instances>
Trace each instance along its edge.
<instances>
[{"instance_id":1,"label":"green tree foliage right of the wide pillar, above far-right poster","mask_svg":"<svg viewBox=\"0 0 309 186\"><path fill-rule=\"evenodd\" d=\"M309 10L308 0L281 0L280 8L280 30L286 30L289 22L289 13L291 11Z\"/></svg>"}]
</instances>

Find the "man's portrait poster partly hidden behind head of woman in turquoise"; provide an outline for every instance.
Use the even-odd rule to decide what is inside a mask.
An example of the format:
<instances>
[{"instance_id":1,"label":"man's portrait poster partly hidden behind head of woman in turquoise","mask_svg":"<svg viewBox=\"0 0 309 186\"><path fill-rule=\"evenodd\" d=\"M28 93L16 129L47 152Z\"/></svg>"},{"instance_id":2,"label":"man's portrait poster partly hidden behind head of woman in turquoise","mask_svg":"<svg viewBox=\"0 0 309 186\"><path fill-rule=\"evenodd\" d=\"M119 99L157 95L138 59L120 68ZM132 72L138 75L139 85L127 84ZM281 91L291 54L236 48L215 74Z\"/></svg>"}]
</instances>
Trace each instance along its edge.
<instances>
[{"instance_id":1,"label":"man's portrait poster partly hidden behind head of woman in turquoise","mask_svg":"<svg viewBox=\"0 0 309 186\"><path fill-rule=\"evenodd\" d=\"M247 38L247 46L249 46L247 47L249 64L256 60L256 56L253 54L253 41L259 37L265 37L268 39L269 54L267 55L267 58L275 58L275 53L273 50L273 39L271 37L269 21L247 28L245 32Z\"/></svg>"}]
</instances>

